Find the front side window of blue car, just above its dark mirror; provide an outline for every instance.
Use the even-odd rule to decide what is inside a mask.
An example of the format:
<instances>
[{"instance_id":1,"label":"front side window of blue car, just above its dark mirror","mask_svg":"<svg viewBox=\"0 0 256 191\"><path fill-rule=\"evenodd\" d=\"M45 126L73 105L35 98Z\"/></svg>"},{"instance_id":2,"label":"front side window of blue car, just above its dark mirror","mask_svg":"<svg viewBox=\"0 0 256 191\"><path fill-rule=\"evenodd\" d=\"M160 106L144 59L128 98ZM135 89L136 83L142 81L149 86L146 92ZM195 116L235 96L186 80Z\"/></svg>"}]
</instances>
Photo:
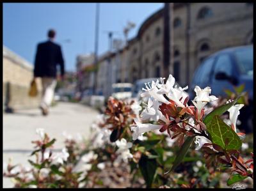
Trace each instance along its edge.
<instances>
[{"instance_id":1,"label":"front side window of blue car, just above its dark mirror","mask_svg":"<svg viewBox=\"0 0 256 191\"><path fill-rule=\"evenodd\" d=\"M218 72L224 72L228 76L232 75L232 61L228 54L223 54L218 57L214 69L214 75Z\"/></svg>"}]
</instances>

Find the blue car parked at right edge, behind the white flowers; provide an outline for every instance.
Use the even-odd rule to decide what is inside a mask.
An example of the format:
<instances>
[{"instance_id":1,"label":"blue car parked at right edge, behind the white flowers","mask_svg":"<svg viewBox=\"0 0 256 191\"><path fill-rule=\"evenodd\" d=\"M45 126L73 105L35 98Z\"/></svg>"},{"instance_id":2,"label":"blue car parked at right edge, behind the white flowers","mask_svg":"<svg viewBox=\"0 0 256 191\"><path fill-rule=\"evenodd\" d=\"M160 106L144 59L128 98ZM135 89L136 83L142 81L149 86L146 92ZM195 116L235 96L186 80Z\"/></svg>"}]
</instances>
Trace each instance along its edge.
<instances>
[{"instance_id":1,"label":"blue car parked at right edge, behind the white flowers","mask_svg":"<svg viewBox=\"0 0 256 191\"><path fill-rule=\"evenodd\" d=\"M224 89L234 92L234 86L244 84L249 105L241 109L241 130L253 130L253 45L220 50L207 57L196 69L189 89L189 98L195 97L195 86L211 87L211 95L227 96Z\"/></svg>"}]
</instances>

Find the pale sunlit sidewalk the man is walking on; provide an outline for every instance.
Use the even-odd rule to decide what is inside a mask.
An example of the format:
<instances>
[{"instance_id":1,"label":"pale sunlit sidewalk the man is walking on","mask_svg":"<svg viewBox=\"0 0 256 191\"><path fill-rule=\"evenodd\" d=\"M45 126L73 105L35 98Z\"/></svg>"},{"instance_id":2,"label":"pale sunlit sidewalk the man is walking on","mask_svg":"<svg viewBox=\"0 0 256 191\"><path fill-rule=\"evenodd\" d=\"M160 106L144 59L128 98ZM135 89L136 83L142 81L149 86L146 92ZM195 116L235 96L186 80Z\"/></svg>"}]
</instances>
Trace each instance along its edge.
<instances>
[{"instance_id":1,"label":"pale sunlit sidewalk the man is walking on","mask_svg":"<svg viewBox=\"0 0 256 191\"><path fill-rule=\"evenodd\" d=\"M39 109L17 111L3 114L3 162L29 165L28 156L33 150L31 141L38 139L36 128L44 128L50 138L55 138L54 149L63 148L63 132L76 137L90 136L90 125L96 120L98 112L79 103L59 102L51 107L49 116L42 116ZM10 178L3 178L3 187L12 187Z\"/></svg>"}]
</instances>

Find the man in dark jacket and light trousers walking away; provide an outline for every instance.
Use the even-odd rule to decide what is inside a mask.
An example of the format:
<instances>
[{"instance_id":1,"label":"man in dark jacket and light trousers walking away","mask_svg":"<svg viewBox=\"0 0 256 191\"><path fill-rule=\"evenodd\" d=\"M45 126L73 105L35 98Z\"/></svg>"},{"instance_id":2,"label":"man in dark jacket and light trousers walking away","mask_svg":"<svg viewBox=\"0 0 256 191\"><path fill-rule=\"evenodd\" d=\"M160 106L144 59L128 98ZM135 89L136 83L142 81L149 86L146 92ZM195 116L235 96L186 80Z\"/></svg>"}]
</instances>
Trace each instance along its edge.
<instances>
[{"instance_id":1,"label":"man in dark jacket and light trousers walking away","mask_svg":"<svg viewBox=\"0 0 256 191\"><path fill-rule=\"evenodd\" d=\"M53 29L48 31L47 42L38 43L35 56L34 78L42 78L42 101L40 109L46 116L49 113L49 106L54 97L54 89L57 84L57 65L60 65L61 80L64 79L65 67L60 45L54 43L56 32Z\"/></svg>"}]
</instances>

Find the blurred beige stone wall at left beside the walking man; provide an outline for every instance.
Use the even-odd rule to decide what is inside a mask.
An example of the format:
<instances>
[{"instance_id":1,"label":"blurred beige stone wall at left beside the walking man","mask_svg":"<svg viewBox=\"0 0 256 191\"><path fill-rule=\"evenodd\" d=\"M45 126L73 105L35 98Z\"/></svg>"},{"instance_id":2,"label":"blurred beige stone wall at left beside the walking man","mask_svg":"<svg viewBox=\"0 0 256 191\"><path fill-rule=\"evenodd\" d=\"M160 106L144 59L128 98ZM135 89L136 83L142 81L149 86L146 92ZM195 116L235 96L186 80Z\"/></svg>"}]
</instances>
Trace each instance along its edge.
<instances>
[{"instance_id":1,"label":"blurred beige stone wall at left beside the walking man","mask_svg":"<svg viewBox=\"0 0 256 191\"><path fill-rule=\"evenodd\" d=\"M28 96L33 66L11 50L3 46L3 110L8 107L14 111L38 107L42 91L40 79L36 79L38 96Z\"/></svg>"}]
</instances>

